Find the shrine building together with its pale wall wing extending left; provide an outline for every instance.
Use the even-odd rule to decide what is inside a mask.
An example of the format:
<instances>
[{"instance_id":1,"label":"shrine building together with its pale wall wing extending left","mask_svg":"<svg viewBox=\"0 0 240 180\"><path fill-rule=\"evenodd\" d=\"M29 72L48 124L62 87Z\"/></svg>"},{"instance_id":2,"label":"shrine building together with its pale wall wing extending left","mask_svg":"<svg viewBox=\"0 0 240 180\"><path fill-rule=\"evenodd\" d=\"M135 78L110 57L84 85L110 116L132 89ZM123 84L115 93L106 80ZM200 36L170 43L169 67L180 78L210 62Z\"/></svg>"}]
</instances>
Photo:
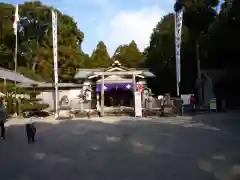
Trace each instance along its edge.
<instances>
[{"instance_id":1,"label":"shrine building together with its pale wall wing extending left","mask_svg":"<svg viewBox=\"0 0 240 180\"><path fill-rule=\"evenodd\" d=\"M59 107L69 106L73 110L89 110L102 107L133 107L134 90L137 83L143 87L143 99L148 99L151 90L147 88L147 78L155 77L148 69L133 69L114 61L108 68L78 69L75 75L77 83L58 84ZM38 98L54 108L54 84L34 82L41 93ZM19 86L32 88L32 83ZM103 91L102 91L103 90ZM90 99L87 94L90 93ZM102 98L103 97L103 98ZM144 101L143 101L144 102ZM146 103L143 103L146 104Z\"/></svg>"}]
</instances>

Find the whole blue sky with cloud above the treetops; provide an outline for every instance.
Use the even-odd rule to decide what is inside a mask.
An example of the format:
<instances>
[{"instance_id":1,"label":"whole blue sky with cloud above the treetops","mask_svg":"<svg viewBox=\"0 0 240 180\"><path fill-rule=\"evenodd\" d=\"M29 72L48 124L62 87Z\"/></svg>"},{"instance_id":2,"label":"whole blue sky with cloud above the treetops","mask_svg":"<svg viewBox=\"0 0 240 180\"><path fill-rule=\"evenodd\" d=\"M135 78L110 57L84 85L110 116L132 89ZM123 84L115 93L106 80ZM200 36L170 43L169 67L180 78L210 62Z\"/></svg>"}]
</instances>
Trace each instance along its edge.
<instances>
[{"instance_id":1,"label":"whole blue sky with cloud above the treetops","mask_svg":"<svg viewBox=\"0 0 240 180\"><path fill-rule=\"evenodd\" d=\"M22 0L4 0L17 4ZM103 41L110 55L121 44L132 40L143 51L153 28L161 18L173 12L175 0L42 0L70 15L84 32L83 51L91 54Z\"/></svg>"}]
</instances>

